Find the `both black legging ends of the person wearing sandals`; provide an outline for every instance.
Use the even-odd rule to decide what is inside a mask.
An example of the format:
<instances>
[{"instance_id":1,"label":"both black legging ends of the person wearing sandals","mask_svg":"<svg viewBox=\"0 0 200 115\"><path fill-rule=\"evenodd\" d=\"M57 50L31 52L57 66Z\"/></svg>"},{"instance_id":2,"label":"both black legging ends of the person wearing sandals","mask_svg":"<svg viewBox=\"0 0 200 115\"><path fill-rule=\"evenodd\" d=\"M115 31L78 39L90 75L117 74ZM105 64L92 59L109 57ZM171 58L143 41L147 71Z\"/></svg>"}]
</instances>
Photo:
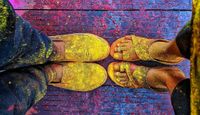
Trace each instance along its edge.
<instances>
[{"instance_id":1,"label":"both black legging ends of the person wearing sandals","mask_svg":"<svg viewBox=\"0 0 200 115\"><path fill-rule=\"evenodd\" d=\"M192 40L192 27L190 22L179 32L176 44L183 57L190 59L190 48ZM185 79L177 84L173 90L172 105L176 115L190 114L190 80Z\"/></svg>"}]
</instances>

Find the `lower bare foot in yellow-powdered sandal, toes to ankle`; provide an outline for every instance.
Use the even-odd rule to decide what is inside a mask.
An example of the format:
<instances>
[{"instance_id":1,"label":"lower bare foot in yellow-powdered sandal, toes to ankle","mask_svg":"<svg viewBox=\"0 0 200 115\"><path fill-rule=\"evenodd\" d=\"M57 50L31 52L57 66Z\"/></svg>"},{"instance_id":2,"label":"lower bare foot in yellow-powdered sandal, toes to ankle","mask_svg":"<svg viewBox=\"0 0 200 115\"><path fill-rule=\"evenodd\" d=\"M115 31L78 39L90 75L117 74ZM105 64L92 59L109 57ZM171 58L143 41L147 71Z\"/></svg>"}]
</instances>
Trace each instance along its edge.
<instances>
[{"instance_id":1,"label":"lower bare foot in yellow-powdered sandal, toes to ankle","mask_svg":"<svg viewBox=\"0 0 200 115\"><path fill-rule=\"evenodd\" d=\"M127 88L152 88L156 91L172 92L174 87L185 76L176 67L147 68L131 63L111 63L108 73L112 81L117 85Z\"/></svg>"}]
</instances>

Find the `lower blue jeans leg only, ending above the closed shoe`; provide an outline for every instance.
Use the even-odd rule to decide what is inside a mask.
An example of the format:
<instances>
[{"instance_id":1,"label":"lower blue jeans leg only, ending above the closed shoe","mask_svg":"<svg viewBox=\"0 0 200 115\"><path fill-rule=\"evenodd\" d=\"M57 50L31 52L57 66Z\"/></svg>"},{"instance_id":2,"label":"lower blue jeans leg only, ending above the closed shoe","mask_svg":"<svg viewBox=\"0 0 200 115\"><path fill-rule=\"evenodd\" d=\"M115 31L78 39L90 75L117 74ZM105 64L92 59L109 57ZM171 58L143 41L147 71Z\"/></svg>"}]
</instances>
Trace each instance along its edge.
<instances>
[{"instance_id":1,"label":"lower blue jeans leg only, ending above the closed shoe","mask_svg":"<svg viewBox=\"0 0 200 115\"><path fill-rule=\"evenodd\" d=\"M0 73L0 113L23 115L46 93L47 76L41 67Z\"/></svg>"}]
</instances>

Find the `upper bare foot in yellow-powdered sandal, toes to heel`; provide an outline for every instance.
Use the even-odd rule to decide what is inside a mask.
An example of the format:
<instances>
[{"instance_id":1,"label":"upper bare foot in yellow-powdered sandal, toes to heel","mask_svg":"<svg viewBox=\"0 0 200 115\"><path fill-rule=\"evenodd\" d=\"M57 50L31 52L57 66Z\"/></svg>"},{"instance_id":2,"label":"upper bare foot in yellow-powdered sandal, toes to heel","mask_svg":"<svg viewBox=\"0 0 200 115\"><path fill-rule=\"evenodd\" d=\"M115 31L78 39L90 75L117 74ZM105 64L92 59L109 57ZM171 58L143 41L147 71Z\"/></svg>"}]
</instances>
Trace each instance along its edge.
<instances>
[{"instance_id":1,"label":"upper bare foot in yellow-powdered sandal, toes to heel","mask_svg":"<svg viewBox=\"0 0 200 115\"><path fill-rule=\"evenodd\" d=\"M177 64L183 58L167 51L170 42L167 40L148 39L135 35L129 35L116 40L112 46L110 55L123 61L157 61L163 64Z\"/></svg>"}]
</instances>

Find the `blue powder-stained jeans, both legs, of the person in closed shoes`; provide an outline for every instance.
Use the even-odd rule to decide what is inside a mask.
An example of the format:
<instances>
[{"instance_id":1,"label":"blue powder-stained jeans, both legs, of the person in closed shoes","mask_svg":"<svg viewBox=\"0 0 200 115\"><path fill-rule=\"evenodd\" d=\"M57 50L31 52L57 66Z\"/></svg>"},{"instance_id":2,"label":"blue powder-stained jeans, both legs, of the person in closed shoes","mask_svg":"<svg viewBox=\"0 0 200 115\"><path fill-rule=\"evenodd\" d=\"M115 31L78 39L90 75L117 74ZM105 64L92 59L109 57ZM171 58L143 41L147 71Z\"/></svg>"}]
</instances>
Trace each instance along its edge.
<instances>
[{"instance_id":1,"label":"blue powder-stained jeans, both legs, of the person in closed shoes","mask_svg":"<svg viewBox=\"0 0 200 115\"><path fill-rule=\"evenodd\" d=\"M8 0L0 0L0 113L22 115L46 93L47 80L38 67L52 53L52 41L16 16Z\"/></svg>"}]
</instances>

